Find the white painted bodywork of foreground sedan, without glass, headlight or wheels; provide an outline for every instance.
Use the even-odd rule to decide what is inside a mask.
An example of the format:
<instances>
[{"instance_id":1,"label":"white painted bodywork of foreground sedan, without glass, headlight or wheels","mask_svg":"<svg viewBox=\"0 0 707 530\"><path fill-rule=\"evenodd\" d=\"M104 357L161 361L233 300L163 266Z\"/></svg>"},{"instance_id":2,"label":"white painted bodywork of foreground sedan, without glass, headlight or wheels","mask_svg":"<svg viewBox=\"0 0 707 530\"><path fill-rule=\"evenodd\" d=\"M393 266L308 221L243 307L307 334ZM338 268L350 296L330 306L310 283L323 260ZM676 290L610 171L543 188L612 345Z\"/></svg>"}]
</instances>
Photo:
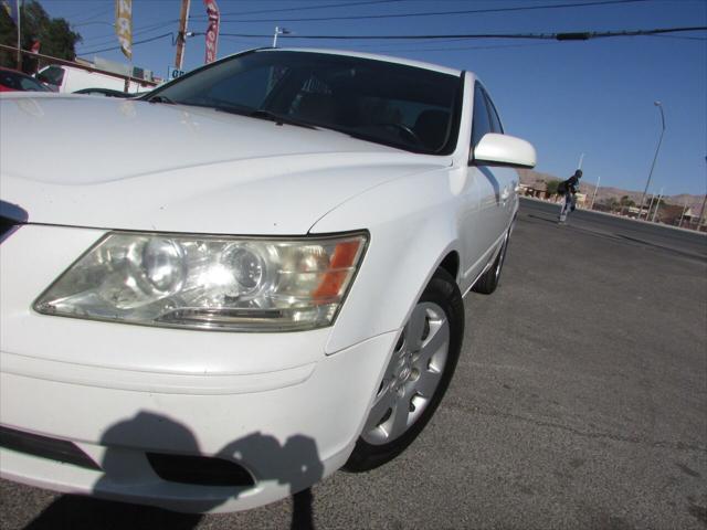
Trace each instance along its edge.
<instances>
[{"instance_id":1,"label":"white painted bodywork of foreground sedan, without glass, headlight or wheels","mask_svg":"<svg viewBox=\"0 0 707 530\"><path fill-rule=\"evenodd\" d=\"M463 75L458 141L446 156L179 105L0 96L0 213L17 219L19 206L28 214L0 252L0 424L70 441L105 471L0 447L2 476L181 511L231 511L283 498L346 463L429 278L455 253L456 280L468 292L518 208L515 170L467 162L476 80ZM67 124L75 148L56 141L54 123ZM36 145L41 159L28 156ZM535 152L520 146L520 158L534 163ZM209 332L32 309L117 229L365 230L370 240L327 328ZM163 480L146 451L242 462L257 483ZM304 469L288 467L298 459Z\"/></svg>"}]
</instances>

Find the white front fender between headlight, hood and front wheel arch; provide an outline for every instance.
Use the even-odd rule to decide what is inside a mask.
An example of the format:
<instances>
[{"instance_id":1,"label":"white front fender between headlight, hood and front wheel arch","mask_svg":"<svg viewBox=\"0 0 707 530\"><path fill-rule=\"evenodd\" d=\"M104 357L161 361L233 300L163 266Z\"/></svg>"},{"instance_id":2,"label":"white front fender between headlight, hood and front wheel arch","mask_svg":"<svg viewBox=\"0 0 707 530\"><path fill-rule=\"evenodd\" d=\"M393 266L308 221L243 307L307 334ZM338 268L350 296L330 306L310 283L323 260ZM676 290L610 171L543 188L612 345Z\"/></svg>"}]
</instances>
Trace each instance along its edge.
<instances>
[{"instance_id":1,"label":"white front fender between headlight, hood and front wheel arch","mask_svg":"<svg viewBox=\"0 0 707 530\"><path fill-rule=\"evenodd\" d=\"M369 247L326 346L327 353L400 329L440 262L460 255L449 171L405 177L329 212L310 233L367 229Z\"/></svg>"}]
</instances>

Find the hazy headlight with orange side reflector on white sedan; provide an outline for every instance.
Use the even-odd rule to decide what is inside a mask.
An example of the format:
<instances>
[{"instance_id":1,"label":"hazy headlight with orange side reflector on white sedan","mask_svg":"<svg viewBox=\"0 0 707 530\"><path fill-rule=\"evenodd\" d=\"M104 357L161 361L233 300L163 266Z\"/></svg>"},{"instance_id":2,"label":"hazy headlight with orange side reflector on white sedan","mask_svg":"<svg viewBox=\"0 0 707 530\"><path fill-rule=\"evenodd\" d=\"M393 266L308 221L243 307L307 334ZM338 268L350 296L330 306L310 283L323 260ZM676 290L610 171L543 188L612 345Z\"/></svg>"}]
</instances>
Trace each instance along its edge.
<instances>
[{"instance_id":1,"label":"hazy headlight with orange side reflector on white sedan","mask_svg":"<svg viewBox=\"0 0 707 530\"><path fill-rule=\"evenodd\" d=\"M34 303L44 315L240 331L329 326L365 234L262 240L110 232Z\"/></svg>"}]
</instances>

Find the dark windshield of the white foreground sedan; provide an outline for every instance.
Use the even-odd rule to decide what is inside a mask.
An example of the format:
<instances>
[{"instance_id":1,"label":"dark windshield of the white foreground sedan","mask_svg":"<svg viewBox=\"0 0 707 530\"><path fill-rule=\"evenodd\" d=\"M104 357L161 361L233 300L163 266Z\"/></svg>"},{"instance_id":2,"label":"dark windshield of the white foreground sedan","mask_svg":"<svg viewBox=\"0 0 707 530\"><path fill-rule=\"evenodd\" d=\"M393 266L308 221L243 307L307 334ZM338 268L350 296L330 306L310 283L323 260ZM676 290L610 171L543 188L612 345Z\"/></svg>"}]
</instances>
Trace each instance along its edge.
<instances>
[{"instance_id":1,"label":"dark windshield of the white foreground sedan","mask_svg":"<svg viewBox=\"0 0 707 530\"><path fill-rule=\"evenodd\" d=\"M260 51L196 71L148 100L334 129L414 152L447 153L461 78L345 55Z\"/></svg>"}]
</instances>

